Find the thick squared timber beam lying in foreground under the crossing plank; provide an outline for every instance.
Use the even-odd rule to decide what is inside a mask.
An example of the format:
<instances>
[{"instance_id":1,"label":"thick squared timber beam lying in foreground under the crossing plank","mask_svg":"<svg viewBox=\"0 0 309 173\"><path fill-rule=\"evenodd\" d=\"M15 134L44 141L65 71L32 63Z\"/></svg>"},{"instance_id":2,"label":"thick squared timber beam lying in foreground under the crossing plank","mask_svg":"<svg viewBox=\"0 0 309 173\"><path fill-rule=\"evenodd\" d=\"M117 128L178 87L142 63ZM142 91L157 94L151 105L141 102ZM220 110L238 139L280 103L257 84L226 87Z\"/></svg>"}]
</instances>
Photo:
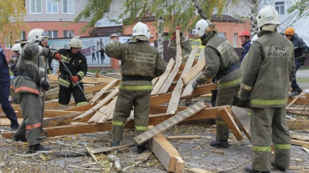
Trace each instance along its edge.
<instances>
[{"instance_id":1,"label":"thick squared timber beam lying in foreground under the crossing plank","mask_svg":"<svg viewBox=\"0 0 309 173\"><path fill-rule=\"evenodd\" d=\"M148 127L150 130L153 126ZM177 150L161 135L157 134L149 140L149 148L160 161L167 172L175 172L176 164L180 157Z\"/></svg>"}]
</instances>

